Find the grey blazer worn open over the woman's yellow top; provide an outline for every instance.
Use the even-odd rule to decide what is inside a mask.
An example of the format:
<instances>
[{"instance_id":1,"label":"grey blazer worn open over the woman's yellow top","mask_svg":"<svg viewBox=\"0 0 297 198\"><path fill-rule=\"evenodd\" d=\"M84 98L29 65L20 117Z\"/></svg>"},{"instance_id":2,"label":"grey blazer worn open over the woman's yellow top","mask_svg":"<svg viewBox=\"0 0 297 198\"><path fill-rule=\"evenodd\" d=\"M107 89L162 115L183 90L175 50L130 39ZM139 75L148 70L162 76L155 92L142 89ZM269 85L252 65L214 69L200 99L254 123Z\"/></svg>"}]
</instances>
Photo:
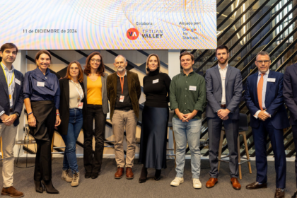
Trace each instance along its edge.
<instances>
[{"instance_id":1,"label":"grey blazer worn open over the woman's yellow top","mask_svg":"<svg viewBox=\"0 0 297 198\"><path fill-rule=\"evenodd\" d=\"M103 108L103 113L107 114L107 112L110 112L108 109L108 99L107 99L107 86L106 86L106 81L107 81L107 76L108 74L104 73L105 76L101 76L101 82L102 82L102 108ZM88 93L88 76L83 73L83 86L85 87L85 97L87 98L87 93ZM87 104L88 104L88 98L87 98ZM88 108L87 108L88 110Z\"/></svg>"}]
</instances>

